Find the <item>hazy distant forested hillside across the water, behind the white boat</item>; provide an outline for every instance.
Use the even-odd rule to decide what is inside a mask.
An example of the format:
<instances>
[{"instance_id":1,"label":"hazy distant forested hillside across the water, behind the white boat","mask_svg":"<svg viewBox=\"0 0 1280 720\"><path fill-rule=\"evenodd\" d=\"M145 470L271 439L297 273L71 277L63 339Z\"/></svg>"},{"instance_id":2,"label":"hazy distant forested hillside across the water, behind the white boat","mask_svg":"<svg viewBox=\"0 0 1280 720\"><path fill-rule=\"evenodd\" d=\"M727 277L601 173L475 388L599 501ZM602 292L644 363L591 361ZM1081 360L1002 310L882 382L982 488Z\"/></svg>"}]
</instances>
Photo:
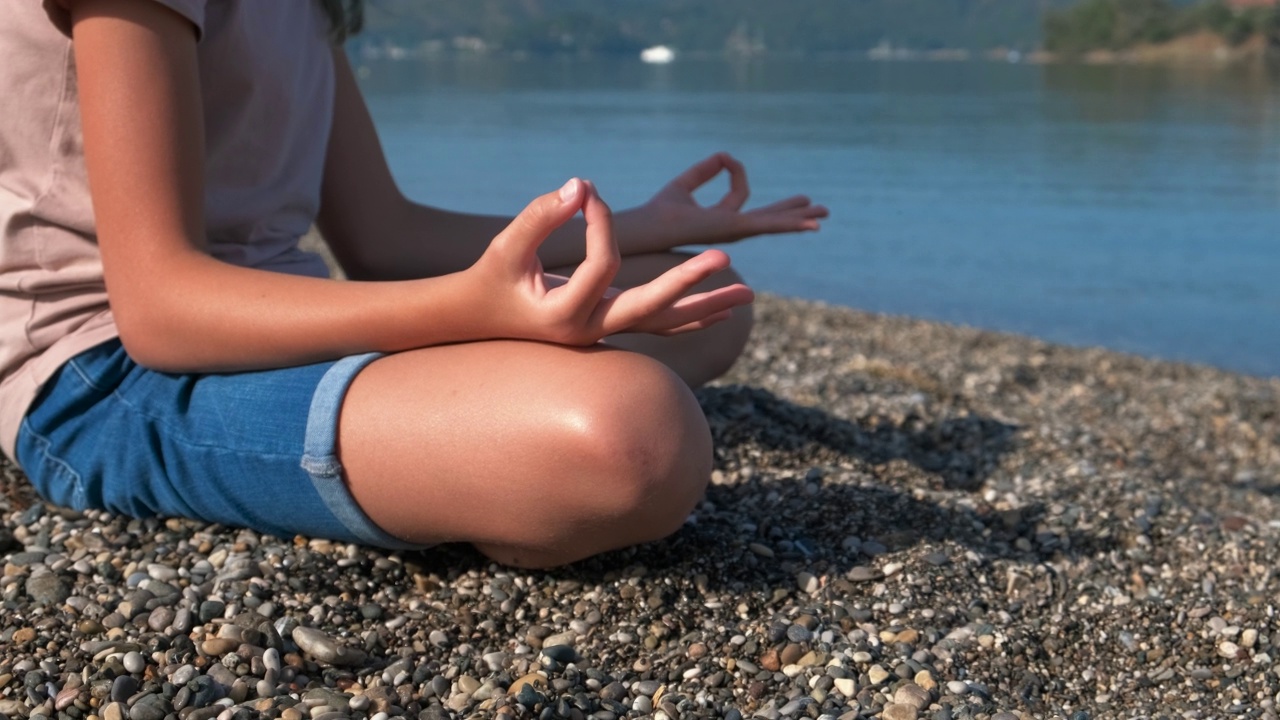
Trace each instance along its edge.
<instances>
[{"instance_id":1,"label":"hazy distant forested hillside across the water, behind the white boat","mask_svg":"<svg viewBox=\"0 0 1280 720\"><path fill-rule=\"evenodd\" d=\"M863 53L1036 47L1070 0L371 0L358 42L515 53ZM461 40L460 38L465 38ZM477 42L479 41L479 42Z\"/></svg>"}]
</instances>

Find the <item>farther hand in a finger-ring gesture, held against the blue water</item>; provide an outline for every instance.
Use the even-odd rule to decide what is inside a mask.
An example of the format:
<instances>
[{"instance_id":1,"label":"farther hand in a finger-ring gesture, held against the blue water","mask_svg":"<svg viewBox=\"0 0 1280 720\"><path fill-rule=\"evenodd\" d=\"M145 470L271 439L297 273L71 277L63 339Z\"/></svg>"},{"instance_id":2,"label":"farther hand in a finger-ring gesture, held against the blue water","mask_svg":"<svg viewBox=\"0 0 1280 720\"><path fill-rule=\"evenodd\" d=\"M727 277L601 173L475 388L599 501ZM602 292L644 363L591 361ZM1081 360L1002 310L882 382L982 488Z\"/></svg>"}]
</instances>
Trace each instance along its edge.
<instances>
[{"instance_id":1,"label":"farther hand in a finger-ring gesture, held against the blue water","mask_svg":"<svg viewBox=\"0 0 1280 720\"><path fill-rule=\"evenodd\" d=\"M699 205L694 192L721 172L730 188L714 205ZM681 245L717 245L758 234L817 231L827 209L795 195L763 208L742 210L750 188L746 169L728 152L717 152L667 183L618 223L622 252L653 252ZM626 237L632 236L632 237Z\"/></svg>"}]
</instances>

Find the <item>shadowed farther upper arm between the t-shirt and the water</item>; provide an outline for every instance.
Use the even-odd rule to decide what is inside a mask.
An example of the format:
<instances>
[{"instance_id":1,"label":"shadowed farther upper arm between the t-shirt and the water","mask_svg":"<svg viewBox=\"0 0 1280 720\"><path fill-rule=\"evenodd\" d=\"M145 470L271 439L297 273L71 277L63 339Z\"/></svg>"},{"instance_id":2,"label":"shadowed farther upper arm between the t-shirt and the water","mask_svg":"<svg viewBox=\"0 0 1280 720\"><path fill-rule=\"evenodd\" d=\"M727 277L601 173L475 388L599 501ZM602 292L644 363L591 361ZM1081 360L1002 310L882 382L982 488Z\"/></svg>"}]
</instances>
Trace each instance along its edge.
<instances>
[{"instance_id":1,"label":"shadowed farther upper arm between the t-shirt and the water","mask_svg":"<svg viewBox=\"0 0 1280 720\"><path fill-rule=\"evenodd\" d=\"M387 167L378 131L342 49L334 49L333 128L320 193L320 232L352 277L379 266L383 238L410 202Z\"/></svg>"}]
</instances>

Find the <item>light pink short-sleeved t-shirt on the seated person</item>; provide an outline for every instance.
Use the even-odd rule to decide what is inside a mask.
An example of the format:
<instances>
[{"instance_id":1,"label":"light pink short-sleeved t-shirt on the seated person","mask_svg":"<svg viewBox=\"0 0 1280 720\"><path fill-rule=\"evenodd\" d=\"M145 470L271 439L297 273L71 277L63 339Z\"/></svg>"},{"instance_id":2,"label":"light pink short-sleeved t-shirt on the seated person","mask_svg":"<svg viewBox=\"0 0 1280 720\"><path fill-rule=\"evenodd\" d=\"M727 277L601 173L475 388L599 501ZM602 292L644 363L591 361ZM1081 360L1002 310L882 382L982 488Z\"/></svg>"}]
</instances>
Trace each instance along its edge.
<instances>
[{"instance_id":1,"label":"light pink short-sleeved t-shirt on the seated person","mask_svg":"<svg viewBox=\"0 0 1280 720\"><path fill-rule=\"evenodd\" d=\"M210 252L328 277L317 256L297 247L319 210L333 118L329 20L319 3L148 1L197 31ZM15 0L0 15L0 448L9 457L42 384L116 336L69 32L54 0Z\"/></svg>"}]
</instances>

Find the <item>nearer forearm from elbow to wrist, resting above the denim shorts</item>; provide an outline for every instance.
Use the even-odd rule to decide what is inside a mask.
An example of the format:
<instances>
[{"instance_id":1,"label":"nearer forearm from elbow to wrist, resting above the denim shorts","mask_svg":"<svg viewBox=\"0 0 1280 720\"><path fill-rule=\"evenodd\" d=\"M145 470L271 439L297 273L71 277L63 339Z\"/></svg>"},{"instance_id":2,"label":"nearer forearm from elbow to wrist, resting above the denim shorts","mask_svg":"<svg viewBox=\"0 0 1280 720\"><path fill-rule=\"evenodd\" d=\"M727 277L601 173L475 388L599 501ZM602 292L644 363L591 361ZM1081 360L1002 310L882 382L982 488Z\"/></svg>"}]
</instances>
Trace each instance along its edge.
<instances>
[{"instance_id":1,"label":"nearer forearm from elbow to wrist, resting above the denim shorts","mask_svg":"<svg viewBox=\"0 0 1280 720\"><path fill-rule=\"evenodd\" d=\"M198 252L163 264L108 277L109 288L125 288L109 290L125 348L152 369L276 368L484 333L466 311L458 275L337 282L238 268Z\"/></svg>"}]
</instances>

